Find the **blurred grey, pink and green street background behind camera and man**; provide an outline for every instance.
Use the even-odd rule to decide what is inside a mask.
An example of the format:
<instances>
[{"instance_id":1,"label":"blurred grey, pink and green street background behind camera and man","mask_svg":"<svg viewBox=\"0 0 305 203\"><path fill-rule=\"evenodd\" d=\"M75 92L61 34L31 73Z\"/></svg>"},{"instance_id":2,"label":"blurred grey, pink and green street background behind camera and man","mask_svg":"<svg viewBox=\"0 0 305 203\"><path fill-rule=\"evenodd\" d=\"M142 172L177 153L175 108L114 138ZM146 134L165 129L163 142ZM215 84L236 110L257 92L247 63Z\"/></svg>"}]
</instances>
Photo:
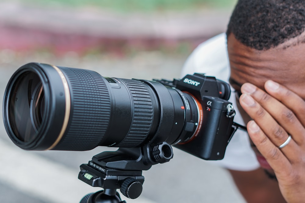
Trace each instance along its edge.
<instances>
[{"instance_id":1,"label":"blurred grey, pink and green street background behind camera and man","mask_svg":"<svg viewBox=\"0 0 305 203\"><path fill-rule=\"evenodd\" d=\"M180 77L184 61L224 32L236 0L0 0L0 95L28 62L85 68L103 76ZM77 179L87 152L26 152L0 124L0 202L76 203L98 191ZM244 203L228 172L174 149L143 171L142 195L127 203ZM122 199L126 198L123 196Z\"/></svg>"}]
</instances>

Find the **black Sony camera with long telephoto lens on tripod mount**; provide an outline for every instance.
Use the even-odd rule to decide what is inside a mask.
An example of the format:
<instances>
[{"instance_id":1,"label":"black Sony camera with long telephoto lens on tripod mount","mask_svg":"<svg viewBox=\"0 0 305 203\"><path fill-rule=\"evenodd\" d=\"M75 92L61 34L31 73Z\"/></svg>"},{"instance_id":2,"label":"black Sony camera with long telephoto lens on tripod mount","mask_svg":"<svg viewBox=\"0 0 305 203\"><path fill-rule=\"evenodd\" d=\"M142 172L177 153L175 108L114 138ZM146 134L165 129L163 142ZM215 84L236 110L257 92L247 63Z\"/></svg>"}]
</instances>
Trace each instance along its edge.
<instances>
[{"instance_id":1,"label":"black Sony camera with long telephoto lens on tripod mount","mask_svg":"<svg viewBox=\"0 0 305 203\"><path fill-rule=\"evenodd\" d=\"M139 171L169 161L171 146L223 159L239 127L230 93L226 82L198 73L172 81L120 79L29 63L9 80L3 119L11 140L25 150L118 147L82 164L79 179L136 198L139 192L131 190L144 181Z\"/></svg>"}]
</instances>

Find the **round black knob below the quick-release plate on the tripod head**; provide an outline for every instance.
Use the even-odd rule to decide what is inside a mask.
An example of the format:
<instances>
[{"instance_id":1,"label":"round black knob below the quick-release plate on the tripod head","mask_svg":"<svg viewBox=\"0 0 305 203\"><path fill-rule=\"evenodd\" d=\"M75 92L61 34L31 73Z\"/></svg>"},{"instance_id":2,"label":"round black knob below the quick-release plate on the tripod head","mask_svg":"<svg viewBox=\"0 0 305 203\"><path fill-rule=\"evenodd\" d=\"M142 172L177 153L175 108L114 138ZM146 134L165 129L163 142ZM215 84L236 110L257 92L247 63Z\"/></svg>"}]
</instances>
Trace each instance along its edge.
<instances>
[{"instance_id":1,"label":"round black knob below the quick-release plate on the tripod head","mask_svg":"<svg viewBox=\"0 0 305 203\"><path fill-rule=\"evenodd\" d=\"M135 199L142 193L142 184L134 178L126 178L121 184L121 193L130 199Z\"/></svg>"}]
</instances>

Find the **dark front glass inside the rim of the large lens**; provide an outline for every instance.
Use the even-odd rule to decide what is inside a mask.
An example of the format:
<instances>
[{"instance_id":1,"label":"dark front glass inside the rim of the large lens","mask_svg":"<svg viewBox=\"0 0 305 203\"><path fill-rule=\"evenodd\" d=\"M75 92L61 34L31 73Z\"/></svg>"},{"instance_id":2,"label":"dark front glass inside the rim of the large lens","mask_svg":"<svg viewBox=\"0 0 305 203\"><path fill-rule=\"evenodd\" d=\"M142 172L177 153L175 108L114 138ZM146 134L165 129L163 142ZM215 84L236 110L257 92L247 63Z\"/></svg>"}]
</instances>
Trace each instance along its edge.
<instances>
[{"instance_id":1,"label":"dark front glass inside the rim of the large lens","mask_svg":"<svg viewBox=\"0 0 305 203\"><path fill-rule=\"evenodd\" d=\"M43 121L44 89L35 72L24 72L16 81L9 98L9 122L20 141L30 142Z\"/></svg>"}]
</instances>

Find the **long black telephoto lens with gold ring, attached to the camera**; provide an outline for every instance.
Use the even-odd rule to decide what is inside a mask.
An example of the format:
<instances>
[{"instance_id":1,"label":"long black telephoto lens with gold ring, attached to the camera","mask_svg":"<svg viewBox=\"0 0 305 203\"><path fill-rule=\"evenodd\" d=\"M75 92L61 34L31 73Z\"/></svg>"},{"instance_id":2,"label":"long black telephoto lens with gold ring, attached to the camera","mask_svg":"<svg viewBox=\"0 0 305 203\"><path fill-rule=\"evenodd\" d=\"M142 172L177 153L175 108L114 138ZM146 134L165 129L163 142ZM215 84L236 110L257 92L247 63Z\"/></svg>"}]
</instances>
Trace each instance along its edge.
<instances>
[{"instance_id":1,"label":"long black telephoto lens with gold ring, attached to the camera","mask_svg":"<svg viewBox=\"0 0 305 203\"><path fill-rule=\"evenodd\" d=\"M156 81L29 63L9 80L3 119L22 149L84 151L138 147L156 136L188 142L201 127L202 109L191 94Z\"/></svg>"}]
</instances>

